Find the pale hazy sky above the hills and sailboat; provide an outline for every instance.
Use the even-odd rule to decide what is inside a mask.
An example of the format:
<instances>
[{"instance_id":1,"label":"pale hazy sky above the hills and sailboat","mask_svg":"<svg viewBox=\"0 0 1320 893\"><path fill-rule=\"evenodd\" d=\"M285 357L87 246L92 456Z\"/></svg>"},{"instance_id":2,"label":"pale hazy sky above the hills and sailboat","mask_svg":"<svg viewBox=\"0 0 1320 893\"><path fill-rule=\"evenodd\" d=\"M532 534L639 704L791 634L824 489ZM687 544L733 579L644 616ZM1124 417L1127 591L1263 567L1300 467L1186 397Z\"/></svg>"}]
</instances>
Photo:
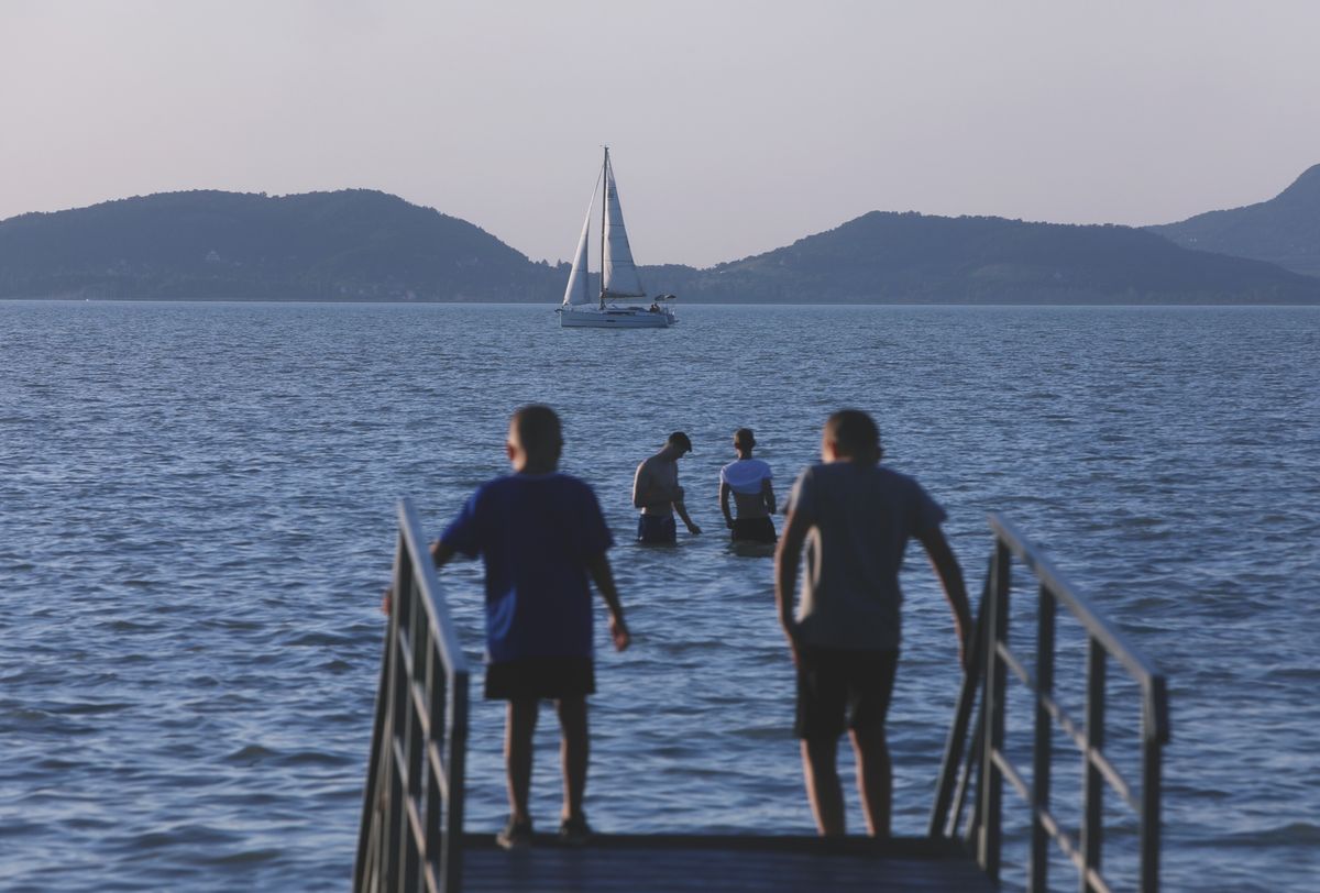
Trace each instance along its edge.
<instances>
[{"instance_id":1,"label":"pale hazy sky above the hills and sailboat","mask_svg":"<svg viewBox=\"0 0 1320 893\"><path fill-rule=\"evenodd\" d=\"M0 0L0 218L380 189L639 262L871 210L1166 223L1320 162L1320 3Z\"/></svg>"}]
</instances>

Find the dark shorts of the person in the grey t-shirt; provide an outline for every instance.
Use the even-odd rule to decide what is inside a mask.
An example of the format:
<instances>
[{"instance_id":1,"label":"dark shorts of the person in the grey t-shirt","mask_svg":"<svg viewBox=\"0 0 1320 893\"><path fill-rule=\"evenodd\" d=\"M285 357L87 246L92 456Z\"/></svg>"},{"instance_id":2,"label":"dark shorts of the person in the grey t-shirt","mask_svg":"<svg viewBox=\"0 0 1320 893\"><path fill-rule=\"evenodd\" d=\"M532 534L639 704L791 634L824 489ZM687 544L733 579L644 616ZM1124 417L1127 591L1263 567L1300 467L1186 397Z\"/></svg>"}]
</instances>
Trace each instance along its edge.
<instances>
[{"instance_id":1,"label":"dark shorts of the person in the grey t-shirt","mask_svg":"<svg viewBox=\"0 0 1320 893\"><path fill-rule=\"evenodd\" d=\"M896 648L873 652L804 646L799 654L793 733L833 741L845 728L883 728L898 665Z\"/></svg>"}]
</instances>

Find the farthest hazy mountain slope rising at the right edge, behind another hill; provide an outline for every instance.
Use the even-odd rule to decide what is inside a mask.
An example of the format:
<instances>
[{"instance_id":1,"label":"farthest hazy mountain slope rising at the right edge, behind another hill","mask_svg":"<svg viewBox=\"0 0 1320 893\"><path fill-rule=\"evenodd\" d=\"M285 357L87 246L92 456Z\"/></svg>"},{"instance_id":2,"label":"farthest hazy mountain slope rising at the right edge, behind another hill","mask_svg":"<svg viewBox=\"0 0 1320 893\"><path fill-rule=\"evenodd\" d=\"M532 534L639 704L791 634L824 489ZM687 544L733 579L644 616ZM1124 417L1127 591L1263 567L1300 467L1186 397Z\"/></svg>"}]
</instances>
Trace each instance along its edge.
<instances>
[{"instance_id":1,"label":"farthest hazy mountain slope rising at the right edge, behind another hill","mask_svg":"<svg viewBox=\"0 0 1320 893\"><path fill-rule=\"evenodd\" d=\"M1254 257L1320 276L1320 165L1269 202L1147 228L1185 248Z\"/></svg>"}]
</instances>

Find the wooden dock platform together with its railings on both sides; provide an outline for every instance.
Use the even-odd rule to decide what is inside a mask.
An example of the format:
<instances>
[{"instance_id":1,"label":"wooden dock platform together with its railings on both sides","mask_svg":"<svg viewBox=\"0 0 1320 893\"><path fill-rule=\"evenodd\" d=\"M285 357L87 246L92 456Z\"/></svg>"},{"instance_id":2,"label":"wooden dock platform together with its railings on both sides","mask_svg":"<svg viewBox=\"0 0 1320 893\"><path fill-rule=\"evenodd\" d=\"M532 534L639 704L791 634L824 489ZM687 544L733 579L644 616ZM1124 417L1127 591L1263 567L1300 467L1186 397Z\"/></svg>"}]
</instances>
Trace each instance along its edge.
<instances>
[{"instance_id":1,"label":"wooden dock platform together with its railings on both sides","mask_svg":"<svg viewBox=\"0 0 1320 893\"><path fill-rule=\"evenodd\" d=\"M1020 865L1030 893L1049 890L1051 846L1073 864L1084 893L1109 893L1101 871L1106 790L1139 822L1138 889L1159 892L1160 768L1170 737L1164 677L999 516L990 516L994 551L927 836L876 843L867 838L599 835L586 847L572 848L546 835L519 852L496 847L494 834L463 827L469 667L409 500L400 504L399 521L393 608L380 662L355 893L997 890L1005 782L1031 820L1027 861ZM1020 645L1016 652L1010 648L1008 637L1015 562L1036 584L1035 648L1027 660ZM1081 718L1069 714L1055 693L1060 615L1086 636ZM1138 702L1129 700L1129 715L1139 718L1137 784L1123 777L1106 748L1110 665L1135 683L1127 691ZM1005 747L1010 675L1020 681L1034 712L1030 773ZM1131 711L1133 706L1138 710ZM1065 827L1053 810L1055 737L1071 743L1082 757L1080 827Z\"/></svg>"}]
</instances>

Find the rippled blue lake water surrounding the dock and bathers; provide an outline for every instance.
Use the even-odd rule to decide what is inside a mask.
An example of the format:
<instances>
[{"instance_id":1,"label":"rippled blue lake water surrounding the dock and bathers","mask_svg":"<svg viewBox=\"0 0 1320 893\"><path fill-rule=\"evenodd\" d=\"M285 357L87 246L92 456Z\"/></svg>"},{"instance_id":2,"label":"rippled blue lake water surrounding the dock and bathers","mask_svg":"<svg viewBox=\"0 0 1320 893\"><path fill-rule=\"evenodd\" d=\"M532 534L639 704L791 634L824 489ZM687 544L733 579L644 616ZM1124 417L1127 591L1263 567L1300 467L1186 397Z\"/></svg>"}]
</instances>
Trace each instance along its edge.
<instances>
[{"instance_id":1,"label":"rippled blue lake water surrounding the dock and bathers","mask_svg":"<svg viewBox=\"0 0 1320 893\"><path fill-rule=\"evenodd\" d=\"M504 471L510 410L544 401L619 541L636 637L615 654L598 627L598 830L812 830L771 562L729 550L717 475L746 425L787 492L855 405L949 512L973 596L999 510L1168 674L1166 889L1315 889L1320 310L680 315L602 332L527 306L0 302L0 888L345 889L396 500L438 533ZM642 549L632 470L675 429L706 534ZM919 559L899 834L924 832L960 681ZM479 661L479 567L442 579ZM495 831L500 706L478 696L473 723L467 826ZM537 740L553 828L550 714Z\"/></svg>"}]
</instances>

